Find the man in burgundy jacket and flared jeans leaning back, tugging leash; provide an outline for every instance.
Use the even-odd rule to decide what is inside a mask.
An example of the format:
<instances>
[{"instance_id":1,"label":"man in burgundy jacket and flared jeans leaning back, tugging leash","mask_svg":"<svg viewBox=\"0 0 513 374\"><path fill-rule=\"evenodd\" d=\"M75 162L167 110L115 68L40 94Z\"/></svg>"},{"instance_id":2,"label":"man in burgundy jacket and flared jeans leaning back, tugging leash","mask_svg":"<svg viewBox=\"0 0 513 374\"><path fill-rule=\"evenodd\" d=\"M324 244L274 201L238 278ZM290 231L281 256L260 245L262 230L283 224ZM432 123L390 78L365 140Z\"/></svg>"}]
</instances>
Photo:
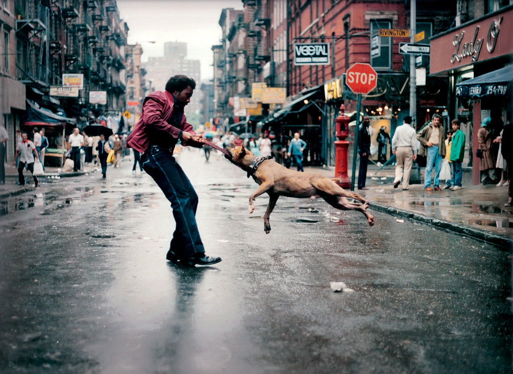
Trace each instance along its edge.
<instances>
[{"instance_id":1,"label":"man in burgundy jacket and flared jeans leaning back, tugging leash","mask_svg":"<svg viewBox=\"0 0 513 374\"><path fill-rule=\"evenodd\" d=\"M184 114L195 87L193 79L175 75L167 81L164 92L148 95L143 101L141 119L127 141L129 147L143 153L144 170L171 202L176 227L166 258L189 266L221 261L220 257L205 255L195 217L198 195L173 157L178 139L183 146L203 146L202 138L194 133Z\"/></svg>"}]
</instances>

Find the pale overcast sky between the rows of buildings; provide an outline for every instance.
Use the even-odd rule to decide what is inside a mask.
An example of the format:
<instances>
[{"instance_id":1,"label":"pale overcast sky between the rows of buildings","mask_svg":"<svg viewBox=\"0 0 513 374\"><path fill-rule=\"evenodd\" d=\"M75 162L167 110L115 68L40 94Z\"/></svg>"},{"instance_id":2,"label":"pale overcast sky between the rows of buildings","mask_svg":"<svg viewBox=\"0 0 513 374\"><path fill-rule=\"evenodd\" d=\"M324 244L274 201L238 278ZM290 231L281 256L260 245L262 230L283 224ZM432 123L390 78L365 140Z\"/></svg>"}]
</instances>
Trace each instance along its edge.
<instances>
[{"instance_id":1,"label":"pale overcast sky between the rows of buildings","mask_svg":"<svg viewBox=\"0 0 513 374\"><path fill-rule=\"evenodd\" d=\"M219 44L219 17L223 8L242 9L241 0L117 0L126 20L128 43L141 43L143 61L164 55L165 41L187 43L187 58L201 61L201 78L213 75L212 50ZM147 43L155 40L155 44Z\"/></svg>"}]
</instances>

